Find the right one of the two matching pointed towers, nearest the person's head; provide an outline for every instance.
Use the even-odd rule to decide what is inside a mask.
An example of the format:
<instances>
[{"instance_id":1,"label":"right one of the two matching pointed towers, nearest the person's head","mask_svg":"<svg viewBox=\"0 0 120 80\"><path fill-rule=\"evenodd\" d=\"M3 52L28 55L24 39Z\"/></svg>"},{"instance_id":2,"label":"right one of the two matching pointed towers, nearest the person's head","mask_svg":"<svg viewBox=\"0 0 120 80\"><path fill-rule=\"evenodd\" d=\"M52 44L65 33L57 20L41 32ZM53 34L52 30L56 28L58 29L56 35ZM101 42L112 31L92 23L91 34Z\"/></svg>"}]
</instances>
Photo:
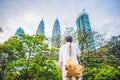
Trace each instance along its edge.
<instances>
[{"instance_id":1,"label":"right one of the two matching pointed towers, nearest the person's head","mask_svg":"<svg viewBox=\"0 0 120 80\"><path fill-rule=\"evenodd\" d=\"M52 46L60 47L60 43L61 43L60 23L59 20L56 19L52 30Z\"/></svg>"}]
</instances>

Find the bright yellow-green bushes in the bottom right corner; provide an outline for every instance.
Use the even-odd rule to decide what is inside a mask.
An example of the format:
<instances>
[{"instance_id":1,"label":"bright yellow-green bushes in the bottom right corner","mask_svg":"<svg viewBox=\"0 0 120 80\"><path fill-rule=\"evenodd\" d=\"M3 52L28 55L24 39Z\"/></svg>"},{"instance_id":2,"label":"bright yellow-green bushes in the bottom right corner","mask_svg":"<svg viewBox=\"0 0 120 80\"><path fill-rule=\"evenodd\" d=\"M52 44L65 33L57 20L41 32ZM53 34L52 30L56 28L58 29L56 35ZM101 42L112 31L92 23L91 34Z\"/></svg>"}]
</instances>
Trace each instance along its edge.
<instances>
[{"instance_id":1,"label":"bright yellow-green bushes in the bottom right corner","mask_svg":"<svg viewBox=\"0 0 120 80\"><path fill-rule=\"evenodd\" d=\"M120 66L115 68L110 65L101 64L98 67L87 67L84 72L84 80L119 80Z\"/></svg>"}]
</instances>

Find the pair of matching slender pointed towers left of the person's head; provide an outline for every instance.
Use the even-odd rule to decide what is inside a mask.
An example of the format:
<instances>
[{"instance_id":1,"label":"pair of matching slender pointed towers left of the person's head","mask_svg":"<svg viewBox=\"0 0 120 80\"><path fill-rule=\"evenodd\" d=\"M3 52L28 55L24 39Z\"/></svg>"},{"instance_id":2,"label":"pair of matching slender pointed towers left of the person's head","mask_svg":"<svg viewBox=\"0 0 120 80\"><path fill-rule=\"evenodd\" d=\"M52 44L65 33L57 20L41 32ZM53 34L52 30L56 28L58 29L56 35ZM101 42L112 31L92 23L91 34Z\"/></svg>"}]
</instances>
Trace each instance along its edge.
<instances>
[{"instance_id":1,"label":"pair of matching slender pointed towers left of the person's head","mask_svg":"<svg viewBox=\"0 0 120 80\"><path fill-rule=\"evenodd\" d=\"M41 20L36 34L38 35L45 35L45 26L43 19ZM61 42L61 30L60 30L60 23L58 18L54 22L53 30L52 30L52 46L60 47Z\"/></svg>"}]
</instances>

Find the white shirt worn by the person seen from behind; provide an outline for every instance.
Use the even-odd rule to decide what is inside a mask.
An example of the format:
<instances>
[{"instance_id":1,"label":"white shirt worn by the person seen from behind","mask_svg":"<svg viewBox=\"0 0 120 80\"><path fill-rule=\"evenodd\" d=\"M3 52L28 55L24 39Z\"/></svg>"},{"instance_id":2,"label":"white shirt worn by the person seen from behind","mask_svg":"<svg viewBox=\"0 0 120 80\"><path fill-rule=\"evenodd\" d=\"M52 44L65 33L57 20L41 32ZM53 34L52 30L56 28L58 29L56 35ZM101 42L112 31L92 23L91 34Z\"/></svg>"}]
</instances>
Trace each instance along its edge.
<instances>
[{"instance_id":1,"label":"white shirt worn by the person seen from behind","mask_svg":"<svg viewBox=\"0 0 120 80\"><path fill-rule=\"evenodd\" d=\"M65 70L66 62L70 58L69 46L70 46L70 42L67 42L66 44L62 45L60 48L59 62L63 62L62 70ZM81 52L78 46L76 46L75 44L71 44L71 49L72 49L71 57L75 60L76 63L78 63L77 55L80 55Z\"/></svg>"}]
</instances>

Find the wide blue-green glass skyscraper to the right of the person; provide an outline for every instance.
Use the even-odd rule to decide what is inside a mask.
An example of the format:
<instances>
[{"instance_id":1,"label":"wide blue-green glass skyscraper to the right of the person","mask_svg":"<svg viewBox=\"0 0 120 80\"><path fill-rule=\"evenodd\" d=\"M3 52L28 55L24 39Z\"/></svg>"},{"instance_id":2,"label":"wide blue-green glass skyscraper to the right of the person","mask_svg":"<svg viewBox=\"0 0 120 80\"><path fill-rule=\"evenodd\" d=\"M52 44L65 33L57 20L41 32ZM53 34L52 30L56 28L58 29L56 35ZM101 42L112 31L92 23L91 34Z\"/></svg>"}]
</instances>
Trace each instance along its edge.
<instances>
[{"instance_id":1,"label":"wide blue-green glass skyscraper to the right of the person","mask_svg":"<svg viewBox=\"0 0 120 80\"><path fill-rule=\"evenodd\" d=\"M94 50L95 44L88 13L83 11L78 16L76 24L78 31L79 48L82 50L85 49Z\"/></svg>"}]
</instances>

